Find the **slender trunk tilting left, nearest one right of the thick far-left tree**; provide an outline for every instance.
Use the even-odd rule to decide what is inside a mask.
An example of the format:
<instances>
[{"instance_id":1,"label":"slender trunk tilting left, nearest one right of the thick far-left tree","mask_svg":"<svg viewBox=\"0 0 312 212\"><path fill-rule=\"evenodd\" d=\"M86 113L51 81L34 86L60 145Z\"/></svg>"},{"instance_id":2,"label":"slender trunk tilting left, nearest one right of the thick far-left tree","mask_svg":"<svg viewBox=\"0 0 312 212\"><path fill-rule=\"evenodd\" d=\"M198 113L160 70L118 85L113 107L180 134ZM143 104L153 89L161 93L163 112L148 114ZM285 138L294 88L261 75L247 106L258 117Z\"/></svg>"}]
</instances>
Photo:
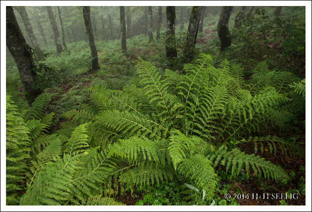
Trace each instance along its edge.
<instances>
[{"instance_id":1,"label":"slender trunk tilting left, nearest one right of the thick far-left tree","mask_svg":"<svg viewBox=\"0 0 312 212\"><path fill-rule=\"evenodd\" d=\"M90 50L92 54L92 69L93 70L99 69L97 51L96 51L96 46L94 43L94 36L93 36L92 24L91 24L91 18L90 18L90 6L83 6L82 10L83 10L85 31L89 40L89 46L90 46Z\"/></svg>"}]
</instances>

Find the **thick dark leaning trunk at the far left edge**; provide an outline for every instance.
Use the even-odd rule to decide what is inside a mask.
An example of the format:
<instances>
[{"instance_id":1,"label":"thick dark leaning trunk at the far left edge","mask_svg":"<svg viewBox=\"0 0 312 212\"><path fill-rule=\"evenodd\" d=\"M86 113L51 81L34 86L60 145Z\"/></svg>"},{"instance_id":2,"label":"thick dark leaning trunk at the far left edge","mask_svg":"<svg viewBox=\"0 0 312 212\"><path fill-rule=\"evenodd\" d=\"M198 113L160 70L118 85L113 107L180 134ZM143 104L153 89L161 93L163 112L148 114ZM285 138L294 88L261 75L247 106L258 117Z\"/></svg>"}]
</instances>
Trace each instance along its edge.
<instances>
[{"instance_id":1,"label":"thick dark leaning trunk at the far left edge","mask_svg":"<svg viewBox=\"0 0 312 212\"><path fill-rule=\"evenodd\" d=\"M21 33L12 6L6 6L6 47L14 58L24 88L25 98L31 105L34 98L40 94L40 89L33 86L36 74L32 70L31 48Z\"/></svg>"}]
</instances>

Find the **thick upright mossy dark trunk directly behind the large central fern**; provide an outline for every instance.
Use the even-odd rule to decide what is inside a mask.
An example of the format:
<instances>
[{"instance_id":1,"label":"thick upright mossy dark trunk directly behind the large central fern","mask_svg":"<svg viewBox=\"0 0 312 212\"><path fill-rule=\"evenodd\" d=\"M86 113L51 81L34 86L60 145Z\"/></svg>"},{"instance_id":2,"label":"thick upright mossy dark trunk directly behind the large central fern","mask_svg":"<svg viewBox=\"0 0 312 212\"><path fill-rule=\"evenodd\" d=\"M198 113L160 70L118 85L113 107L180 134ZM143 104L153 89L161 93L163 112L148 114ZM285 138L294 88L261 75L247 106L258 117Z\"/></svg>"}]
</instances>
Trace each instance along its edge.
<instances>
[{"instance_id":1,"label":"thick upright mossy dark trunk directly behind the large central fern","mask_svg":"<svg viewBox=\"0 0 312 212\"><path fill-rule=\"evenodd\" d=\"M176 57L175 48L175 6L166 6L167 30L165 38L165 52L167 57Z\"/></svg>"}]
</instances>

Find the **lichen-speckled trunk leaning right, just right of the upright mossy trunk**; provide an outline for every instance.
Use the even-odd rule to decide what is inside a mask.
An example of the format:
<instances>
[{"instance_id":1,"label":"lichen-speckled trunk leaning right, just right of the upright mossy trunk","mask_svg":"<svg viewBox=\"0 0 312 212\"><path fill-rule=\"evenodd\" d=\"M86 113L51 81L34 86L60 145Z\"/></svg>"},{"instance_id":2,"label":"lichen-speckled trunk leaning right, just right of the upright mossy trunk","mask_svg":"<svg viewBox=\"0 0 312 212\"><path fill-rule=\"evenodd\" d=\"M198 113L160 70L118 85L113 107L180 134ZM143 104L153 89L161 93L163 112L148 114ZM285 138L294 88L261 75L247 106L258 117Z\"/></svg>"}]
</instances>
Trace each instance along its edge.
<instances>
[{"instance_id":1,"label":"lichen-speckled trunk leaning right, just right of the upright mossy trunk","mask_svg":"<svg viewBox=\"0 0 312 212\"><path fill-rule=\"evenodd\" d=\"M203 6L193 6L188 21L186 41L183 49L183 62L190 62L194 57L195 43L198 32L198 25Z\"/></svg>"}]
</instances>

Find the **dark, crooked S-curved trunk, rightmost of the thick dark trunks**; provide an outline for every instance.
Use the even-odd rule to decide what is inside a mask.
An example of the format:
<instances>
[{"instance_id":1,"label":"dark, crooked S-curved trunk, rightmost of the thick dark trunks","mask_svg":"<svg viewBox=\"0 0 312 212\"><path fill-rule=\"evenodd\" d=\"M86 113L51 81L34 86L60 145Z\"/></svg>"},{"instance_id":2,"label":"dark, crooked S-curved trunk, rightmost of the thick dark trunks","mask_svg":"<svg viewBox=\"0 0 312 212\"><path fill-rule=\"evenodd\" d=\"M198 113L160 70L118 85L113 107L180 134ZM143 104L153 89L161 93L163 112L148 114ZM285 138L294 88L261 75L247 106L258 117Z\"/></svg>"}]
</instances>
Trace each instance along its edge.
<instances>
[{"instance_id":1,"label":"dark, crooked S-curved trunk, rightmost of the thick dark trunks","mask_svg":"<svg viewBox=\"0 0 312 212\"><path fill-rule=\"evenodd\" d=\"M219 22L216 26L218 36L220 38L221 47L220 50L223 51L225 47L230 46L230 33L228 30L228 20L231 14L233 6L223 6L220 13Z\"/></svg>"}]
</instances>

